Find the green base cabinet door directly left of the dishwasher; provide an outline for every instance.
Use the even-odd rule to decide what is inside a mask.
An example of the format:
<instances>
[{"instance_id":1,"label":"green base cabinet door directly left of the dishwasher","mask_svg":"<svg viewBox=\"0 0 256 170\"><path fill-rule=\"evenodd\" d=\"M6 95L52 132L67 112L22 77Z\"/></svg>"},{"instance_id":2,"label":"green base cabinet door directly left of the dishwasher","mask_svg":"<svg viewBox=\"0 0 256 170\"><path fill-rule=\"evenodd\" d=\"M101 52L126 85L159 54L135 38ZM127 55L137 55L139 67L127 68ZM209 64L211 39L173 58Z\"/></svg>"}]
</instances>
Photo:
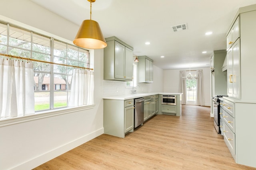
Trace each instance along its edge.
<instances>
[{"instance_id":1,"label":"green base cabinet door directly left of the dishwasher","mask_svg":"<svg viewBox=\"0 0 256 170\"><path fill-rule=\"evenodd\" d=\"M124 133L133 129L134 125L134 107L129 106L124 108Z\"/></svg>"}]
</instances>

